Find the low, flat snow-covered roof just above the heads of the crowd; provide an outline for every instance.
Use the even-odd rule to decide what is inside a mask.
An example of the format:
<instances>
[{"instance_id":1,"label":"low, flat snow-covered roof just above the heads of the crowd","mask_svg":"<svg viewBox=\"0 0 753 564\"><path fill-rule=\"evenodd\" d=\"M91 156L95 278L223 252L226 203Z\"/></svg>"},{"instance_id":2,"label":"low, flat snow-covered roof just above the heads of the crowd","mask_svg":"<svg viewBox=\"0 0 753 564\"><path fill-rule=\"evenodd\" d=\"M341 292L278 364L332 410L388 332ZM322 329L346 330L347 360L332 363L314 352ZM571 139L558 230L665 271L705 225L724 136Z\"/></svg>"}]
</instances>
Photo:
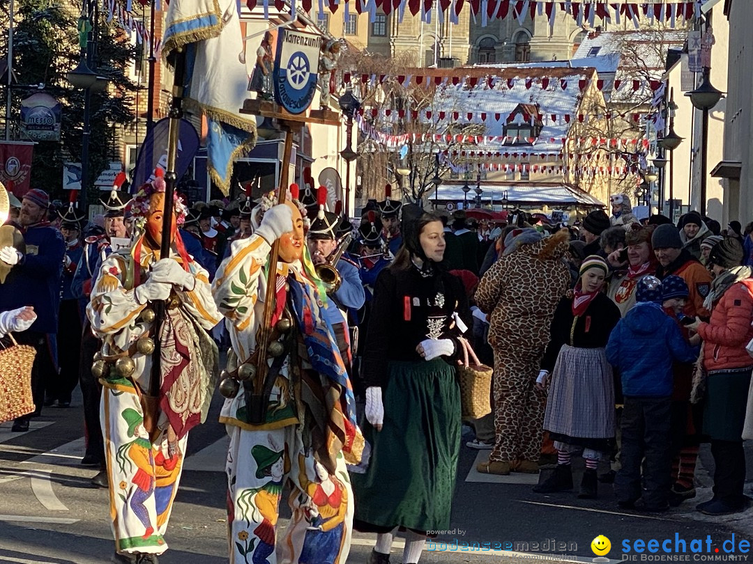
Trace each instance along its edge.
<instances>
[{"instance_id":1,"label":"low, flat snow-covered roof just above the heads of the crowd","mask_svg":"<svg viewBox=\"0 0 753 564\"><path fill-rule=\"evenodd\" d=\"M437 190L437 199L462 202L464 199L462 187L462 183L441 184ZM471 191L468 193L469 202L473 201L476 196L474 188L475 186L471 185ZM508 205L511 207L515 205L548 205L550 207L580 205L590 208L605 207L602 202L599 202L599 200L590 196L590 194L576 188L575 186L568 186L567 184L481 183L481 190L483 190L481 199L484 202L492 202L492 204L501 204L502 197L504 196L503 193L507 192ZM433 200L434 191L431 190L427 196L429 200Z\"/></svg>"}]
</instances>

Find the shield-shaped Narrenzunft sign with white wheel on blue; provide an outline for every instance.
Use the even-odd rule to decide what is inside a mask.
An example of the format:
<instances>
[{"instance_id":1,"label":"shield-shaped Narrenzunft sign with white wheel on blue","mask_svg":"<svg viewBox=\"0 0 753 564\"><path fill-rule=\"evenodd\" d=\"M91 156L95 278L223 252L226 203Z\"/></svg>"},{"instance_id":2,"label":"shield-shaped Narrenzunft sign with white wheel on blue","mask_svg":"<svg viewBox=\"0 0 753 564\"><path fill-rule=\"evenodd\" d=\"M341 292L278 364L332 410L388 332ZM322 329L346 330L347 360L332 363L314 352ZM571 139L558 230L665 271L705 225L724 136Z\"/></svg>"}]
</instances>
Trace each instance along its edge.
<instances>
[{"instance_id":1,"label":"shield-shaped Narrenzunft sign with white wheel on blue","mask_svg":"<svg viewBox=\"0 0 753 564\"><path fill-rule=\"evenodd\" d=\"M291 114L306 111L319 77L320 35L281 29L272 71L275 101Z\"/></svg>"}]
</instances>

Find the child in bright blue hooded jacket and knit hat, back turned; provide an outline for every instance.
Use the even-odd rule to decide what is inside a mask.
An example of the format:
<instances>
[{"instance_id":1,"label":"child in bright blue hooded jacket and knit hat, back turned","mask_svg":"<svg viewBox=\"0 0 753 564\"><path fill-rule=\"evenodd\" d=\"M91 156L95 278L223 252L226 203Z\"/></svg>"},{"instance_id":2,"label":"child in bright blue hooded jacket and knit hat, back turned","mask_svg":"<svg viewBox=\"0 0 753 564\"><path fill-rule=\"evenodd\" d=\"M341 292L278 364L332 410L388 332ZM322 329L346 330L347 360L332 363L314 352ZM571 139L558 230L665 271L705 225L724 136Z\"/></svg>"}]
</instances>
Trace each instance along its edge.
<instances>
[{"instance_id":1,"label":"child in bright blue hooded jacket and knit hat, back turned","mask_svg":"<svg viewBox=\"0 0 753 564\"><path fill-rule=\"evenodd\" d=\"M665 511L672 486L672 362L693 362L700 349L687 344L675 321L664 313L657 277L642 277L636 298L636 305L612 330L606 350L608 361L622 376L624 396L622 468L614 478L614 491L620 508L635 507L645 457L642 509Z\"/></svg>"}]
</instances>

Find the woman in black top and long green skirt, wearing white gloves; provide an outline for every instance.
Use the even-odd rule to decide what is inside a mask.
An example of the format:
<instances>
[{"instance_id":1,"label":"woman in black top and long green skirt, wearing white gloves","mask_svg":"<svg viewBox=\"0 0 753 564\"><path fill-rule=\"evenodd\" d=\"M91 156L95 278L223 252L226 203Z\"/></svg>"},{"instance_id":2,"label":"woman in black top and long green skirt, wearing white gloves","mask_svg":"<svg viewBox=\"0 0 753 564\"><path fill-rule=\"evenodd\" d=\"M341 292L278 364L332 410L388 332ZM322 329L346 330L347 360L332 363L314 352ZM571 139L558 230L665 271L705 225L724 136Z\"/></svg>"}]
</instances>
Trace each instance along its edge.
<instances>
[{"instance_id":1,"label":"woman in black top and long green skirt, wearing white gloves","mask_svg":"<svg viewBox=\"0 0 753 564\"><path fill-rule=\"evenodd\" d=\"M449 528L460 449L455 364L468 302L441 264L440 218L416 205L402 214L403 247L377 278L362 364L371 456L352 484L356 529L377 532L369 564L389 562L399 526L405 564L419 561L427 531Z\"/></svg>"}]
</instances>

